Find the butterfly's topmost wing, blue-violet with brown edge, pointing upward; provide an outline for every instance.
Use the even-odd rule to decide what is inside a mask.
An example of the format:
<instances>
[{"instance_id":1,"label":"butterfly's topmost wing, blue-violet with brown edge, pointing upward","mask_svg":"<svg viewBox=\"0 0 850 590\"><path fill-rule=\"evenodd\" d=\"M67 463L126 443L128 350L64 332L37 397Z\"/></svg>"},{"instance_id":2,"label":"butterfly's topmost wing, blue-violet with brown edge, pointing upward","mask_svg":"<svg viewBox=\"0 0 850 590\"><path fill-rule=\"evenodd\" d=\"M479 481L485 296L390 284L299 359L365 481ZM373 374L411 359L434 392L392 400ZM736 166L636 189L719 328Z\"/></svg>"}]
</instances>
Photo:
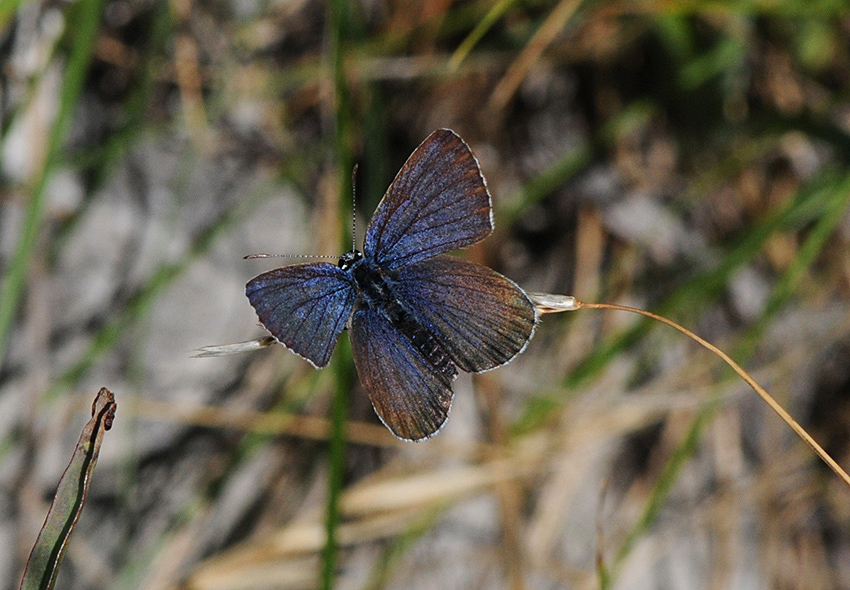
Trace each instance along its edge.
<instances>
[{"instance_id":1,"label":"butterfly's topmost wing, blue-violet with brown edge, pointing upward","mask_svg":"<svg viewBox=\"0 0 850 590\"><path fill-rule=\"evenodd\" d=\"M401 167L366 228L363 252L395 270L493 231L478 160L454 131L428 136Z\"/></svg>"}]
</instances>

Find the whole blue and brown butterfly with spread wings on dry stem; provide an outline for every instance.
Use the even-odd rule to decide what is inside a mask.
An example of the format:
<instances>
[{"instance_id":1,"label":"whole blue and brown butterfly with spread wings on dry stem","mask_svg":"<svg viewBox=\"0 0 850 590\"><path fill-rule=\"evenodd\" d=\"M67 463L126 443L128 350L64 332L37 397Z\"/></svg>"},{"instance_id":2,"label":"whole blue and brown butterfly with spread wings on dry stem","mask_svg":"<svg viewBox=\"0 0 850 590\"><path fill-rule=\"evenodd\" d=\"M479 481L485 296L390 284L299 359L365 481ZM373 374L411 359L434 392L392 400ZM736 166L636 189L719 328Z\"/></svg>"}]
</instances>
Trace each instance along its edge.
<instances>
[{"instance_id":1,"label":"whole blue and brown butterfly with spread wings on dry stem","mask_svg":"<svg viewBox=\"0 0 850 590\"><path fill-rule=\"evenodd\" d=\"M262 325L324 367L343 329L381 421L422 440L446 423L458 369L480 373L522 352L537 323L513 281L446 252L493 231L478 160L439 129L401 167L366 228L363 252L337 265L294 264L251 279L246 295Z\"/></svg>"}]
</instances>

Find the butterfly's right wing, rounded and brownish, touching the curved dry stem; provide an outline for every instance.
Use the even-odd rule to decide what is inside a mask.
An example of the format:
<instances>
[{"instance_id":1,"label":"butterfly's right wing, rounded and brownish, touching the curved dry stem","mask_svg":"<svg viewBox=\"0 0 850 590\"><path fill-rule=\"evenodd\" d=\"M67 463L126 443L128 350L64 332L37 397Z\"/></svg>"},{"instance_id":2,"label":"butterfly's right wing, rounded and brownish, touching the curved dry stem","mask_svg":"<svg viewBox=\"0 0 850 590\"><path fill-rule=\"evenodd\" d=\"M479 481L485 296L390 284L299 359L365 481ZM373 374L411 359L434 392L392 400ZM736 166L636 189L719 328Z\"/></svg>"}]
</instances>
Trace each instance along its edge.
<instances>
[{"instance_id":1,"label":"butterfly's right wing, rounded and brownish, touching the curved dry stem","mask_svg":"<svg viewBox=\"0 0 850 590\"><path fill-rule=\"evenodd\" d=\"M395 292L420 321L443 337L467 372L509 362L522 352L537 320L534 304L494 270L451 256L402 268Z\"/></svg>"}]
</instances>

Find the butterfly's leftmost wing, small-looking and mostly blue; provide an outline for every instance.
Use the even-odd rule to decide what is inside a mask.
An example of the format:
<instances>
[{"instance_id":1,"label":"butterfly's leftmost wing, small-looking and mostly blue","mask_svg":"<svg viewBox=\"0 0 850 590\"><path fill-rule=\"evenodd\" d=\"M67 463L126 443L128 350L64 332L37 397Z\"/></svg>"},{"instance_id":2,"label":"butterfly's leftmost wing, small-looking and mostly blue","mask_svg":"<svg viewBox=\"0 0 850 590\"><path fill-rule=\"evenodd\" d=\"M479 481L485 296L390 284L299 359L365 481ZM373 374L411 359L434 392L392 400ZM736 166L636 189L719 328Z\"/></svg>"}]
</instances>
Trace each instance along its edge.
<instances>
[{"instance_id":1,"label":"butterfly's leftmost wing, small-looking and mostly blue","mask_svg":"<svg viewBox=\"0 0 850 590\"><path fill-rule=\"evenodd\" d=\"M245 294L266 330L316 367L330 361L355 297L348 273L326 262L263 273Z\"/></svg>"}]
</instances>

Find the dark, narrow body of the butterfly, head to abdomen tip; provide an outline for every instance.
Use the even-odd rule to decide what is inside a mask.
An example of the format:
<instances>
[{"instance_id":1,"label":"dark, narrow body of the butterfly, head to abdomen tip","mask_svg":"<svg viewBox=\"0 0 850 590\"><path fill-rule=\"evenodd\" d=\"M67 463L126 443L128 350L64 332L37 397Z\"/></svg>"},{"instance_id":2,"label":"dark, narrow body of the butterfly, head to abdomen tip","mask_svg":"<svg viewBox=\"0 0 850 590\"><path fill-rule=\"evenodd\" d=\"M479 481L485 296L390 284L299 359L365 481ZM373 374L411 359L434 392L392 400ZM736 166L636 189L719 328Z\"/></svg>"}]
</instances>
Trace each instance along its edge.
<instances>
[{"instance_id":1,"label":"dark, narrow body of the butterfly, head to abdomen tip","mask_svg":"<svg viewBox=\"0 0 850 590\"><path fill-rule=\"evenodd\" d=\"M443 343L396 295L393 276L357 250L341 256L339 267L354 279L355 313L358 309L371 309L382 314L442 375L449 380L457 376L457 367Z\"/></svg>"}]
</instances>

